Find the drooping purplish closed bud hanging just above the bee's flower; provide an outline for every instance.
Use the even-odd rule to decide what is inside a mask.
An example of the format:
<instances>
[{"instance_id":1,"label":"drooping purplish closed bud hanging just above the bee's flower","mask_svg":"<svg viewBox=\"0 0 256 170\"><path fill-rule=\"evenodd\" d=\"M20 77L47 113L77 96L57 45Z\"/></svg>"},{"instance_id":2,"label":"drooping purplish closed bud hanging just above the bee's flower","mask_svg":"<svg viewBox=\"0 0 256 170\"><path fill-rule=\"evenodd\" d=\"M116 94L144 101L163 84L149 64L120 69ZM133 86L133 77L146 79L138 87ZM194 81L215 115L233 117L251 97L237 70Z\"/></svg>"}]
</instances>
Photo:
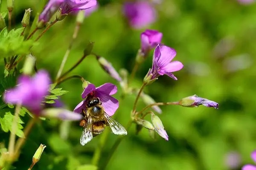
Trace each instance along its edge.
<instances>
[{"instance_id":1,"label":"drooping purplish closed bud hanging just above the bee's flower","mask_svg":"<svg viewBox=\"0 0 256 170\"><path fill-rule=\"evenodd\" d=\"M122 78L119 76L115 68L113 68L111 62L108 62L104 57L96 56L100 66L116 81L121 82Z\"/></svg>"}]
</instances>

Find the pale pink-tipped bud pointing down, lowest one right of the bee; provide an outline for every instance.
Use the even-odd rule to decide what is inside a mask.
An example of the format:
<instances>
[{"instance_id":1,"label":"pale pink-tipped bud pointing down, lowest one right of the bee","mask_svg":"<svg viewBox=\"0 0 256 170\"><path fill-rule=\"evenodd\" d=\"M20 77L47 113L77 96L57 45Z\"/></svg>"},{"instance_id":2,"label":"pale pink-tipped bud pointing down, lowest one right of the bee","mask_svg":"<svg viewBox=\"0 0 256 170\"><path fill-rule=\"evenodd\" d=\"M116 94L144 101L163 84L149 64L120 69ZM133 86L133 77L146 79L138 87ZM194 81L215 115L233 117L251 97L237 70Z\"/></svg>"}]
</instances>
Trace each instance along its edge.
<instances>
[{"instance_id":1,"label":"pale pink-tipped bud pointing down, lowest one right of the bee","mask_svg":"<svg viewBox=\"0 0 256 170\"><path fill-rule=\"evenodd\" d=\"M166 141L168 141L169 137L166 133L166 131L164 130L164 127L163 127L163 123L161 121L161 119L156 116L154 113L151 113L151 121L153 123L153 126L155 128L155 131L163 138L163 139L166 139Z\"/></svg>"}]
</instances>

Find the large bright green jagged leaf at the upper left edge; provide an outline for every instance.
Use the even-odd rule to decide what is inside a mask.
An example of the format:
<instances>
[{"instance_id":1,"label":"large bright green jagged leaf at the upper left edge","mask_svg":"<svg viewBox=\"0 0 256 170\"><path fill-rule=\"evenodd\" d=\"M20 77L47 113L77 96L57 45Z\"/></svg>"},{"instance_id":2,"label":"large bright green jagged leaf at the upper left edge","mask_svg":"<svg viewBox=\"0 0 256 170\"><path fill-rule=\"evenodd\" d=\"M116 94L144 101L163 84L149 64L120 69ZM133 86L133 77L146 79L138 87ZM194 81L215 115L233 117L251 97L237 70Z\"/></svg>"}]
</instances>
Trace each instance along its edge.
<instances>
[{"instance_id":1,"label":"large bright green jagged leaf at the upper left edge","mask_svg":"<svg viewBox=\"0 0 256 170\"><path fill-rule=\"evenodd\" d=\"M23 40L24 37L20 36L23 29L17 28L8 32L7 28L4 28L0 32L0 57L11 57L29 53L34 41Z\"/></svg>"}]
</instances>

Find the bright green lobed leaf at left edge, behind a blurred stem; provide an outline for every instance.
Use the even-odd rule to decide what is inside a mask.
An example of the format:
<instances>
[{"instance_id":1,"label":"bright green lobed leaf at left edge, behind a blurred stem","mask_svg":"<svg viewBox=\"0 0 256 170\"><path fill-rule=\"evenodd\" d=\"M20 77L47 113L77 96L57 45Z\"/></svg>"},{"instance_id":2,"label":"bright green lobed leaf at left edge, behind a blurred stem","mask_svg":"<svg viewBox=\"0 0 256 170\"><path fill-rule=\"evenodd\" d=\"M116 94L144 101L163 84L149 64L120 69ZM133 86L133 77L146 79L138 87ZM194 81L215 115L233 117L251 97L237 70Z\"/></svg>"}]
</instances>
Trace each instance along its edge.
<instances>
[{"instance_id":1,"label":"bright green lobed leaf at left edge, behind a blurred stem","mask_svg":"<svg viewBox=\"0 0 256 170\"><path fill-rule=\"evenodd\" d=\"M23 126L21 124L23 124L24 122L20 119L20 117L18 117L17 129L15 130L12 128L13 120L14 120L14 115L12 115L11 112L6 112L3 118L0 117L0 125L2 130L4 132L11 131L12 133L15 133L19 137L24 137L24 133L21 130L23 129Z\"/></svg>"}]
</instances>

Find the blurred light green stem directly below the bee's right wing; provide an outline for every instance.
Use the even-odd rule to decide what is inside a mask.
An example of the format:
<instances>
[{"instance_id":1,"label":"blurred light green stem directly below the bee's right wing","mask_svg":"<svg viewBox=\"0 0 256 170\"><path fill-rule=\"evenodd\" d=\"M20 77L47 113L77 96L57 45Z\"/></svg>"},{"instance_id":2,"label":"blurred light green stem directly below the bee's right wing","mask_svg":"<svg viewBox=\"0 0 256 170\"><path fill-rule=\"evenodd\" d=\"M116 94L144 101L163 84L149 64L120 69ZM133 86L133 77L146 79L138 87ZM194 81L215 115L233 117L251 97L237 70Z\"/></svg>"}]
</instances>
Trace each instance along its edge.
<instances>
[{"instance_id":1,"label":"blurred light green stem directly below the bee's right wing","mask_svg":"<svg viewBox=\"0 0 256 170\"><path fill-rule=\"evenodd\" d=\"M100 156L101 156L101 153L102 153L102 148L104 147L105 145L105 142L108 138L108 134L109 134L109 130L106 130L101 138L100 138L100 141L99 141L99 144L98 146L96 147L95 151L94 151L94 154L93 154L93 159L92 159L92 164L97 166L98 163L99 163L99 159L100 159Z\"/></svg>"}]
</instances>

